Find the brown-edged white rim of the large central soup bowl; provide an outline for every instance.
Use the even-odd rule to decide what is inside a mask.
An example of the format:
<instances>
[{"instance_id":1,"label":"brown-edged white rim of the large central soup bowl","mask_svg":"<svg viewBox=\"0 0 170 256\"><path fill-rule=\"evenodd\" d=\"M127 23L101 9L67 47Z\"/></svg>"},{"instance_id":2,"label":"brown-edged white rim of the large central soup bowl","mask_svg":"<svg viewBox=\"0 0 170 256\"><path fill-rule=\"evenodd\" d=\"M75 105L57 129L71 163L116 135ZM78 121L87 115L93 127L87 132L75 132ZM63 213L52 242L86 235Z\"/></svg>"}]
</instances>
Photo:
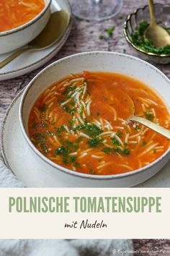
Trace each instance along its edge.
<instances>
[{"instance_id":1,"label":"brown-edged white rim of the large central soup bowl","mask_svg":"<svg viewBox=\"0 0 170 256\"><path fill-rule=\"evenodd\" d=\"M148 164L147 166L143 166L142 168L138 168L135 169L134 171L129 171L129 172L125 172L123 174L112 174L112 175L93 175L93 174L84 174L81 172L77 172L77 171L72 171L68 168L65 168L63 166L58 165L57 163L54 163L53 161L50 161L50 159L48 159L45 155L43 155L39 150L37 150L37 148L35 148L35 145L33 145L32 141L30 140L30 138L27 135L27 132L24 129L24 124L22 121L22 111L23 111L23 106L24 106L24 100L27 97L27 93L29 93L30 88L32 88L32 86L34 86L35 82L38 80L38 78L41 76L41 74L45 73L48 69L50 69L51 67L57 66L59 63L66 61L68 59L72 59L72 58L76 58L79 56L86 56L86 55L97 55L97 54L104 54L104 55L112 55L112 56L122 56L122 57L127 57L130 59L133 59L135 61L138 62L143 62L143 64L146 64L148 67L151 67L152 69L156 70L156 72L158 72L158 74L160 74L162 77L164 77L164 79L166 81L169 82L169 78L166 77L166 75L161 72L161 70L157 69L156 67L154 67L152 64L149 64L147 61L143 61L142 59L139 59L135 56L130 56L128 54L120 54L117 52L108 52L108 51L89 51L89 52L84 52L84 53L80 53L80 54L73 54L67 57L64 57L62 59L59 59L58 61L53 62L52 64L48 65L48 67L45 67L44 69L42 69L27 85L27 87L24 89L24 92L22 94L22 98L20 100L19 103L19 124L20 127L22 129L22 134L24 135L25 140L27 141L28 145L30 146L30 148L36 153L36 155L38 155L42 161L45 161L45 163L48 163L50 166L52 166L55 169L58 169L59 171L63 171L66 174L70 174L73 176L79 176L81 178L84 179L98 179L98 180L105 180L105 179L120 179L123 177L128 177L128 176L133 176L135 174L138 174L140 172L143 171L148 171L149 167L152 166L156 166L156 164L161 161L163 158L166 157L166 155L168 155L170 153L170 147L168 150L166 150L164 152L163 155L161 155L159 158L157 158L155 161L151 162L150 164ZM37 96L38 97L38 96ZM57 170L56 170L57 171Z\"/></svg>"}]
</instances>

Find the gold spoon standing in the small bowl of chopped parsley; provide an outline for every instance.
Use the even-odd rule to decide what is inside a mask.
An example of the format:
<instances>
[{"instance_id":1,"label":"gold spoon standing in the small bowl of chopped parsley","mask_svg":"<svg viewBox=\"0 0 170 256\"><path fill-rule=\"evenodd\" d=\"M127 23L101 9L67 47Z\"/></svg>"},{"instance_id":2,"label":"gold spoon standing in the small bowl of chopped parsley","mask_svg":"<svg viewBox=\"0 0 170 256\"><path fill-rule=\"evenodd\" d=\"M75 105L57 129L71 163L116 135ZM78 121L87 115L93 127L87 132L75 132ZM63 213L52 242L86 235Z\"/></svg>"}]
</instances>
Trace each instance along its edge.
<instances>
[{"instance_id":1,"label":"gold spoon standing in the small bowl of chopped parsley","mask_svg":"<svg viewBox=\"0 0 170 256\"><path fill-rule=\"evenodd\" d=\"M156 47L170 45L169 33L163 27L156 24L153 0L148 0L148 6L151 16L151 24L147 27L144 33L145 38L151 40Z\"/></svg>"}]
</instances>

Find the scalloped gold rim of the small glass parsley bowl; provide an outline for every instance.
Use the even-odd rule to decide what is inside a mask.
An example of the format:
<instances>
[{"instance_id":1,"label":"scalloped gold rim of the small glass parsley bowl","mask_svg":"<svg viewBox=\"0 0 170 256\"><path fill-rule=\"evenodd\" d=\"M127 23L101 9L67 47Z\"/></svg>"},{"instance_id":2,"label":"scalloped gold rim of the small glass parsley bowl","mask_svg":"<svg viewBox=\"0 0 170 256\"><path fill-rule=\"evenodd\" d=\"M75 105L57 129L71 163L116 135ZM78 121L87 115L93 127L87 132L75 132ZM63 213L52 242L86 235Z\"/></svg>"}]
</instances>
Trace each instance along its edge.
<instances>
[{"instance_id":1,"label":"scalloped gold rim of the small glass parsley bowl","mask_svg":"<svg viewBox=\"0 0 170 256\"><path fill-rule=\"evenodd\" d=\"M161 6L164 6L164 7L170 7L170 4L154 4L154 6L156 6L156 5L161 5ZM148 5L145 5L144 7L140 7L140 8L138 8L138 9L135 9L134 12L132 12L131 14L128 15L127 20L125 20L125 22L124 22L124 29L123 29L125 38L126 38L126 40L128 41L128 43L130 43L130 45L133 46L133 48L135 48L137 51L140 51L140 52L143 53L143 54L146 54L146 55L148 55L148 56L156 56L156 57L168 58L168 57L170 57L170 54L154 54L154 53L150 53L150 52L148 52L148 51L145 51L145 50L139 48L138 46L135 46L135 44L133 43L133 41L130 40L130 37L128 36L128 33L127 33L127 30L128 30L128 22L130 22L131 17L132 17L133 15L138 14L138 12L139 12L140 10L143 10L143 11L144 11L147 7L148 7Z\"/></svg>"}]
</instances>

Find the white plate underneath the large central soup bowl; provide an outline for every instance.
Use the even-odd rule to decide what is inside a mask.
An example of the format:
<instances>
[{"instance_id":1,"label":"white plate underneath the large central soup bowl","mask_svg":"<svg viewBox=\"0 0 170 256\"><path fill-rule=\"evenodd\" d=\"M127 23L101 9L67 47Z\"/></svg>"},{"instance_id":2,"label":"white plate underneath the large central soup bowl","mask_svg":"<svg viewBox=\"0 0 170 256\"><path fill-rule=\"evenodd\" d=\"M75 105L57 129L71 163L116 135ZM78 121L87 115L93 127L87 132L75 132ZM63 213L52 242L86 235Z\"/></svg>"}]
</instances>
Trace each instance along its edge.
<instances>
[{"instance_id":1,"label":"white plate underneath the large central soup bowl","mask_svg":"<svg viewBox=\"0 0 170 256\"><path fill-rule=\"evenodd\" d=\"M8 111L1 127L2 154L6 165L11 168L19 180L27 187L66 187L49 175L48 170L40 166L32 157L31 150L22 135L19 126L19 101L22 92L17 95ZM164 168L148 181L136 187L170 187L170 161Z\"/></svg>"}]
</instances>

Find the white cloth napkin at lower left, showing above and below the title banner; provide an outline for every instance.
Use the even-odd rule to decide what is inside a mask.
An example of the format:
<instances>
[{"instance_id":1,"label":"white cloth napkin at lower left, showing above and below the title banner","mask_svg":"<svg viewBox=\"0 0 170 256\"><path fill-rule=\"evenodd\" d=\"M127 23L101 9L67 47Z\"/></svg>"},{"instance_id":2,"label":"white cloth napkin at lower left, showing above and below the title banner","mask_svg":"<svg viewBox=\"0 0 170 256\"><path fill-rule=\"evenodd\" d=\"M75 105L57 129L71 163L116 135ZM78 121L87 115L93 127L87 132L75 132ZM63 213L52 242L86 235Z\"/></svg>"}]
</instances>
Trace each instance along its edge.
<instances>
[{"instance_id":1,"label":"white cloth napkin at lower left, showing above and below the title banner","mask_svg":"<svg viewBox=\"0 0 170 256\"><path fill-rule=\"evenodd\" d=\"M25 187L0 157L0 187ZM0 239L0 256L133 256L132 240Z\"/></svg>"}]
</instances>

